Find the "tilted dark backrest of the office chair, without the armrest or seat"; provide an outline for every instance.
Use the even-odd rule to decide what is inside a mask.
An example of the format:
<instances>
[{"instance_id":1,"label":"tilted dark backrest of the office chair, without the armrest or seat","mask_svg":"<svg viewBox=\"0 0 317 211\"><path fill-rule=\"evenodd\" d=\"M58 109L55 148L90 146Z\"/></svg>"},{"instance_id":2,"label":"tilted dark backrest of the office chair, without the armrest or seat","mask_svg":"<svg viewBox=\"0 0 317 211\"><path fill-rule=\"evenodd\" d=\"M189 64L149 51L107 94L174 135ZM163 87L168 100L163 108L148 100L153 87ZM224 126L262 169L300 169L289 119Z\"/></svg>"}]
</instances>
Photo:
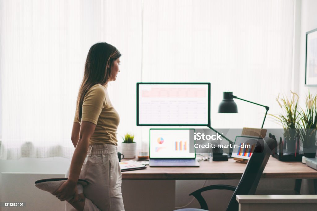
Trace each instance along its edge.
<instances>
[{"instance_id":1,"label":"tilted dark backrest of the office chair, without the armrest or seat","mask_svg":"<svg viewBox=\"0 0 317 211\"><path fill-rule=\"evenodd\" d=\"M227 211L237 211L239 203L236 201L236 195L254 195L256 188L262 176L263 170L268 163L268 158L272 150L277 146L275 140L271 138L259 139L254 153L244 170L244 173L233 193L227 207Z\"/></svg>"}]
</instances>

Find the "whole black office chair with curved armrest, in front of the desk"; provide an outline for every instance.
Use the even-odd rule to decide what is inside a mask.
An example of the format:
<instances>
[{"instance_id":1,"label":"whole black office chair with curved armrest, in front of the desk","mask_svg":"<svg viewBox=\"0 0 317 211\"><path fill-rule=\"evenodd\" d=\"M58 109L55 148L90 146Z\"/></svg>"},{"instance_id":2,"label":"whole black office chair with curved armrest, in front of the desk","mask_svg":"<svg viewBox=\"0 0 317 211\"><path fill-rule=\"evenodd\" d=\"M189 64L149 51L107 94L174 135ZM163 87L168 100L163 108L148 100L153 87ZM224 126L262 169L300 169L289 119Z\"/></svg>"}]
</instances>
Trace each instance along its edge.
<instances>
[{"instance_id":1,"label":"whole black office chair with curved armrest, in front of the desk","mask_svg":"<svg viewBox=\"0 0 317 211\"><path fill-rule=\"evenodd\" d=\"M239 203L236 201L236 195L254 195L256 188L259 184L263 170L268 163L268 158L271 155L272 150L277 146L277 142L271 138L264 138L258 140L255 153L252 153L251 158L243 172L243 175L238 183L238 186L231 185L210 185L192 192L199 202L201 209L197 208L185 208L174 211L206 211L209 210L206 201L201 193L206 190L225 189L234 191L226 211L237 211L239 209Z\"/></svg>"}]
</instances>

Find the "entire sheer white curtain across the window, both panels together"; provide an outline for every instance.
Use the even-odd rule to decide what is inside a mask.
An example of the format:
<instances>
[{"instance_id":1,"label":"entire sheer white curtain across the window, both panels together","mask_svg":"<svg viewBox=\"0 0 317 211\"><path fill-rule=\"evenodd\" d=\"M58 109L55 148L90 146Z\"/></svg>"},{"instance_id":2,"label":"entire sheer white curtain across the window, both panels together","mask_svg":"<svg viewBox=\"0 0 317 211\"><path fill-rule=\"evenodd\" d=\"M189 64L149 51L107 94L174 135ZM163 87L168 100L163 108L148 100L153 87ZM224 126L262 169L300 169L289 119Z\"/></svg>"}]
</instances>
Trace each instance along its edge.
<instances>
[{"instance_id":1,"label":"entire sheer white curtain across the window, both panels together","mask_svg":"<svg viewBox=\"0 0 317 211\"><path fill-rule=\"evenodd\" d=\"M212 127L260 127L262 107L236 100L239 114L223 115L217 106L230 90L278 112L275 97L291 88L293 7L290 0L0 0L1 157L71 157L77 91L98 41L123 55L108 88L119 144L133 132L147 150L148 128L136 127L140 81L211 82Z\"/></svg>"}]
</instances>

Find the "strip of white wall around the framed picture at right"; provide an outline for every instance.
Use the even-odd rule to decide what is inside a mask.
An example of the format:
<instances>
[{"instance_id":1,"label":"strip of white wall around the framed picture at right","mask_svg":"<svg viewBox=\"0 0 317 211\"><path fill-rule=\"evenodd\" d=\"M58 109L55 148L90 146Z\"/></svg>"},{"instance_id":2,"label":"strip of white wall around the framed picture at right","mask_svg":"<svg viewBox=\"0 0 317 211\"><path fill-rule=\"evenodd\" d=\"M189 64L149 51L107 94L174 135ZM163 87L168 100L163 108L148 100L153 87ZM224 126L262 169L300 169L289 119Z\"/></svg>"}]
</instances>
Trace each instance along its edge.
<instances>
[{"instance_id":1,"label":"strip of white wall around the framed picture at right","mask_svg":"<svg viewBox=\"0 0 317 211\"><path fill-rule=\"evenodd\" d=\"M311 93L317 93L317 87L305 87L305 59L306 59L306 32L317 28L317 1L301 0L301 37L300 37L300 66L299 66L299 93L301 104L305 102L308 88Z\"/></svg>"}]
</instances>

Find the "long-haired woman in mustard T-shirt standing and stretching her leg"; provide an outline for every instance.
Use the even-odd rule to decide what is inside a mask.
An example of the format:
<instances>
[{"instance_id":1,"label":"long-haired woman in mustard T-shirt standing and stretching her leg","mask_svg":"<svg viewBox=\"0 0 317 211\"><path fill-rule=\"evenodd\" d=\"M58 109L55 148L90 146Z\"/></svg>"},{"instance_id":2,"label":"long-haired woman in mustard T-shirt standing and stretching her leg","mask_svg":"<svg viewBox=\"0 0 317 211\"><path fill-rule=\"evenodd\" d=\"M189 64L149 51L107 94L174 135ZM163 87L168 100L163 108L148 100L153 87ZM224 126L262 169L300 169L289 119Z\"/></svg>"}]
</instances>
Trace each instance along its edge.
<instances>
[{"instance_id":1,"label":"long-haired woman in mustard T-shirt standing and stretching her leg","mask_svg":"<svg viewBox=\"0 0 317 211\"><path fill-rule=\"evenodd\" d=\"M61 201L73 197L66 202L67 211L124 210L116 137L120 119L107 93L108 82L120 72L120 56L105 42L94 44L88 52L77 97L71 137L75 151L68 180L53 193ZM82 187L78 179L88 185Z\"/></svg>"}]
</instances>

